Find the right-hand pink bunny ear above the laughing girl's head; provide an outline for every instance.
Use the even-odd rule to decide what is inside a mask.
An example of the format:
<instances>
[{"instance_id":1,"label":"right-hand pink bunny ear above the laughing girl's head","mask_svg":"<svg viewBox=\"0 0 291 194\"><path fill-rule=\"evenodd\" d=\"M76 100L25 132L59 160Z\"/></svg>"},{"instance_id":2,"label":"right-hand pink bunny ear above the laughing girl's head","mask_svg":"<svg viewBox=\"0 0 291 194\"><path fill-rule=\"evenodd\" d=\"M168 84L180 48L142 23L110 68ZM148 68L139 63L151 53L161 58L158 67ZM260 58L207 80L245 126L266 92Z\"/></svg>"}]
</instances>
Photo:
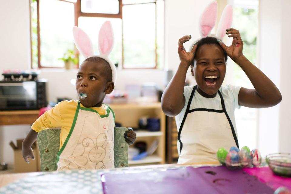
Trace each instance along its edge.
<instances>
[{"instance_id":1,"label":"right-hand pink bunny ear above the laughing girl's head","mask_svg":"<svg viewBox=\"0 0 291 194\"><path fill-rule=\"evenodd\" d=\"M216 36L220 39L226 35L226 29L230 28L232 24L232 6L226 5L223 9L219 24L217 26Z\"/></svg>"}]
</instances>

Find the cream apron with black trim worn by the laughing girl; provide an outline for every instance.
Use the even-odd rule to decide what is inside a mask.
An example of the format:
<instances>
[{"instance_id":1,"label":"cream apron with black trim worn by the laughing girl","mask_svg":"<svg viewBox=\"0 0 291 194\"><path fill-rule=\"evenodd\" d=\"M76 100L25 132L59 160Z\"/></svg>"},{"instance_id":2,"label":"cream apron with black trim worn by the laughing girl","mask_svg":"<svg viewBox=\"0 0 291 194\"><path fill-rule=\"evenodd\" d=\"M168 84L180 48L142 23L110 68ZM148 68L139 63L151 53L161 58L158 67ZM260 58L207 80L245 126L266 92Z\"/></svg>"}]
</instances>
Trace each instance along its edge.
<instances>
[{"instance_id":1,"label":"cream apron with black trim worn by the laughing girl","mask_svg":"<svg viewBox=\"0 0 291 194\"><path fill-rule=\"evenodd\" d=\"M194 162L217 162L220 147L229 150L239 147L235 130L226 112L220 91L222 110L191 109L195 86L178 131L178 164Z\"/></svg>"}]
</instances>

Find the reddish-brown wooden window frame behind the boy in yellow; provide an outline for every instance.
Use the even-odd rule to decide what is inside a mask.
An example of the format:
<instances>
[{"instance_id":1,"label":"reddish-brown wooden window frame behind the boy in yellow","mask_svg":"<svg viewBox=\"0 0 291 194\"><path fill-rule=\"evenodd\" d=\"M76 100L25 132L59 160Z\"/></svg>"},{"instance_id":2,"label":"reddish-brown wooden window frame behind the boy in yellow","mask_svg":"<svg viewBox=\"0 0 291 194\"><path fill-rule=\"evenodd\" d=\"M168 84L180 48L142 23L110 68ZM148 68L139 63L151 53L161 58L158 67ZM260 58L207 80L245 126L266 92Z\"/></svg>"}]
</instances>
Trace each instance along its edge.
<instances>
[{"instance_id":1,"label":"reddish-brown wooden window frame behind the boy in yellow","mask_svg":"<svg viewBox=\"0 0 291 194\"><path fill-rule=\"evenodd\" d=\"M67 2L67 3L72 3L74 5L74 10L75 10L75 14L74 14L74 23L75 26L78 26L78 19L79 17L96 17L96 18L120 18L122 20L122 8L123 6L127 6L127 5L142 5L142 4L149 4L149 3L154 3L155 2L144 2L144 3L132 3L132 4L122 4L122 0L118 0L119 1L119 12L117 14L106 14L106 13L86 13L86 12L82 12L81 11L81 0L77 0L77 2L71 2L71 1L67 1L67 0L57 0L57 1L63 1L63 2ZM29 2L31 3L32 0L29 0ZM38 69L64 69L64 67L47 67L47 66L42 66L41 65L41 37L40 37L40 24L39 24L39 0L35 0L35 2L37 3L37 50L38 50L38 54L37 54L37 59L38 59ZM31 68L33 69L33 54L32 54L32 15L31 15L31 6L29 4L29 10L30 10L30 49L31 49ZM124 42L123 42L123 38L122 38L122 69L157 69L158 66L158 53L157 53L157 5L156 5L156 10L155 10L155 66L154 67L137 67L137 68L126 68L124 67ZM122 20L122 37L123 37L123 20ZM165 44L165 41L163 41L163 44ZM74 47L76 49L76 47ZM164 51L163 51L164 52ZM78 55L78 54L77 54ZM78 55L79 58L79 55ZM76 65L76 68L79 68L79 60L78 63Z\"/></svg>"}]
</instances>

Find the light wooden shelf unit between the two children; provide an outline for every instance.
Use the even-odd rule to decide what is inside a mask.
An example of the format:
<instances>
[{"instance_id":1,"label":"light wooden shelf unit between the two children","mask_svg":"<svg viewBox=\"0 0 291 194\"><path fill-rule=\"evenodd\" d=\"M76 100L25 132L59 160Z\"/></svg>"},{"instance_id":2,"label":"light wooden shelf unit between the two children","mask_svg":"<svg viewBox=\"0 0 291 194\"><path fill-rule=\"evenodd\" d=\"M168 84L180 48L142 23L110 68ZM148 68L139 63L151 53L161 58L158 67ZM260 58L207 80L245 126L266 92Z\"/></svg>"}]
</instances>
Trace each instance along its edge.
<instances>
[{"instance_id":1,"label":"light wooden shelf unit between the two children","mask_svg":"<svg viewBox=\"0 0 291 194\"><path fill-rule=\"evenodd\" d=\"M139 128L139 119L142 117L155 117L160 119L160 131L150 132L147 130L135 130L135 142L144 141L149 147L152 143L159 139L159 145L156 151L141 160L129 160L129 166L144 166L153 164L165 164L165 130L166 115L163 113L161 104L109 104L115 113L115 122L120 123L124 127ZM131 145L134 147L134 144Z\"/></svg>"}]
</instances>

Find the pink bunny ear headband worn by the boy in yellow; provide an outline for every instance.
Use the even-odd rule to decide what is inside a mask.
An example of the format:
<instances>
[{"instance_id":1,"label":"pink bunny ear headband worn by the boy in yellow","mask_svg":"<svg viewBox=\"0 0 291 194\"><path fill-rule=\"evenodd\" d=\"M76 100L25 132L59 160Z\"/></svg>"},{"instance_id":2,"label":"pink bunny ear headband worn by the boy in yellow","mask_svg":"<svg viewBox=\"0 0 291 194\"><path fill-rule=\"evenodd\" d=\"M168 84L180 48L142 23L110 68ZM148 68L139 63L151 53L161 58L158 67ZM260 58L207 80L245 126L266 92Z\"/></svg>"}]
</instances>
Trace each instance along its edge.
<instances>
[{"instance_id":1,"label":"pink bunny ear headband worn by the boy in yellow","mask_svg":"<svg viewBox=\"0 0 291 194\"><path fill-rule=\"evenodd\" d=\"M88 59L89 57L97 56L107 61L112 70L112 82L116 82L116 68L115 65L109 60L108 55L113 48L113 31L109 21L104 22L99 31L98 46L100 55L94 55L92 41L89 36L79 27L73 27L73 36L75 45L79 52Z\"/></svg>"}]
</instances>

